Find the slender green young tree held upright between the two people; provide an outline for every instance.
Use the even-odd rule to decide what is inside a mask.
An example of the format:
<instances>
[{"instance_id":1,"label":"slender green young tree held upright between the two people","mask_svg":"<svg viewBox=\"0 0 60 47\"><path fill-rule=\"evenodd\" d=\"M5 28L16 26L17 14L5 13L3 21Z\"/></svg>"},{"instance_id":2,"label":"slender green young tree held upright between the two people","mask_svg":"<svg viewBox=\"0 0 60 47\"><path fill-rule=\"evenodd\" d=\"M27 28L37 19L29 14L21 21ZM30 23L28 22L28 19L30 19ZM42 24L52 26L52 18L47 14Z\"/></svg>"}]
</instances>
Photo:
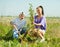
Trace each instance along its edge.
<instances>
[{"instance_id":1,"label":"slender green young tree held upright between the two people","mask_svg":"<svg viewBox=\"0 0 60 47\"><path fill-rule=\"evenodd\" d=\"M33 10L33 6L31 3L29 3L30 7L29 7L29 15L30 15L30 18L29 18L29 22L27 24L27 27L28 27L28 30L27 32L25 33L24 37L28 34L28 32L30 32L30 30L33 28L33 15L34 15L34 10Z\"/></svg>"}]
</instances>

